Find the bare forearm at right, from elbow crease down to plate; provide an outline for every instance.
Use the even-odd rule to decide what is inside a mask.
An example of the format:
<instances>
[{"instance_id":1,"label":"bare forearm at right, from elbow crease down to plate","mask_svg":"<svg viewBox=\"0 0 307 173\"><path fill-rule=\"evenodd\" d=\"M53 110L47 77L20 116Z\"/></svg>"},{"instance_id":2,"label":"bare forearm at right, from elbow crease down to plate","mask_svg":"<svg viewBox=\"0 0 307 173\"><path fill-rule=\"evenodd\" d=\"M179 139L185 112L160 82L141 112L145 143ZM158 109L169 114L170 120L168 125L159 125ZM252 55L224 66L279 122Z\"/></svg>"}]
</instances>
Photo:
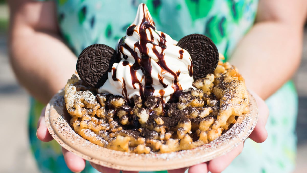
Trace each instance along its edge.
<instances>
[{"instance_id":1,"label":"bare forearm at right, from elbow crease down to plate","mask_svg":"<svg viewBox=\"0 0 307 173\"><path fill-rule=\"evenodd\" d=\"M256 23L231 57L248 88L267 99L295 73L300 62L303 27L283 22Z\"/></svg>"}]
</instances>

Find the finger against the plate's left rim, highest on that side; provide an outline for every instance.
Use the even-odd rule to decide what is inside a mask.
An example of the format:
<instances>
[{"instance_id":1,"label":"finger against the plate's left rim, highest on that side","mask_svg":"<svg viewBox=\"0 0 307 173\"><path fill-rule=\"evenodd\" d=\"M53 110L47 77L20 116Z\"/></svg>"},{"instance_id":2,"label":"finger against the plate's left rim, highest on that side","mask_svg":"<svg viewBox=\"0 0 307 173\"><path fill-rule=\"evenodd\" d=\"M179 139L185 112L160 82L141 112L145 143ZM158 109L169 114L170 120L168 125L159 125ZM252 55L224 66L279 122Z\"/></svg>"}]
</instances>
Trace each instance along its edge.
<instances>
[{"instance_id":1,"label":"finger against the plate's left rim, highest on that side","mask_svg":"<svg viewBox=\"0 0 307 173\"><path fill-rule=\"evenodd\" d=\"M39 140L41 140L43 142L49 142L53 138L50 135L50 133L47 129L46 123L45 123L45 109L46 109L46 107L44 107L44 109L41 111L41 116L38 119L36 136Z\"/></svg>"}]
</instances>

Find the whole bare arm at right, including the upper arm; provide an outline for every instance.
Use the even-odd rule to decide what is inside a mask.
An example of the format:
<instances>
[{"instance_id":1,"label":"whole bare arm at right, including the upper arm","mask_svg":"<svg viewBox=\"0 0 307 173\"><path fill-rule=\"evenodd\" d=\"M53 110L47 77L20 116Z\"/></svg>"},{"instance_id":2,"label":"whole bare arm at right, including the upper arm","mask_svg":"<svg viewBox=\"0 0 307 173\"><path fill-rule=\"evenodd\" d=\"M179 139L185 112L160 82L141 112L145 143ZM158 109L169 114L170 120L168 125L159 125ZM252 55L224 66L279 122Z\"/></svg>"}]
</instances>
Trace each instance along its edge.
<instances>
[{"instance_id":1,"label":"whole bare arm at right, including the upper arm","mask_svg":"<svg viewBox=\"0 0 307 173\"><path fill-rule=\"evenodd\" d=\"M231 57L247 88L267 99L295 73L301 58L305 0L259 0L256 23Z\"/></svg>"}]
</instances>

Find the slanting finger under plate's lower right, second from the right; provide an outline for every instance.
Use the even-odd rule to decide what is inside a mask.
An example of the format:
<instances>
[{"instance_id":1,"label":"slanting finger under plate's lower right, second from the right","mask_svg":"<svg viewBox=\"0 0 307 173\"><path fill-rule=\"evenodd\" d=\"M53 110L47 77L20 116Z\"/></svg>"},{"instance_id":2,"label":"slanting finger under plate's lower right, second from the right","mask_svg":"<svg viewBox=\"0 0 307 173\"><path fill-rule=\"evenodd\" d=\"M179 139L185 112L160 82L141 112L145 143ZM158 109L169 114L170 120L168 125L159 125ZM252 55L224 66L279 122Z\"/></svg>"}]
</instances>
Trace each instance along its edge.
<instances>
[{"instance_id":1,"label":"slanting finger under plate's lower right, second from the right","mask_svg":"<svg viewBox=\"0 0 307 173\"><path fill-rule=\"evenodd\" d=\"M208 162L208 171L212 173L222 172L243 150L243 143L235 147L229 153Z\"/></svg>"}]
</instances>

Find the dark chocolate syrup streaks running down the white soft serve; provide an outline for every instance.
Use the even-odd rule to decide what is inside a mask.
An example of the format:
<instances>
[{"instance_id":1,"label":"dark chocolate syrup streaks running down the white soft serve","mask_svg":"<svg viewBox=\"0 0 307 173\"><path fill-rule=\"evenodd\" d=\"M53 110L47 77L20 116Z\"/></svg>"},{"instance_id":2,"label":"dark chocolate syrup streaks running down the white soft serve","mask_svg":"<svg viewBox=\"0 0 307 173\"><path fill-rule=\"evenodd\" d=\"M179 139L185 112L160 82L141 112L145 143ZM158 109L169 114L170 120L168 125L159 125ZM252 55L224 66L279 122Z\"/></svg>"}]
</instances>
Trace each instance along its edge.
<instances>
[{"instance_id":1,"label":"dark chocolate syrup streaks running down the white soft serve","mask_svg":"<svg viewBox=\"0 0 307 173\"><path fill-rule=\"evenodd\" d=\"M161 69L162 69L161 72L166 71L166 72L173 75L174 81L173 81L172 87L174 89L174 93L177 93L177 91L182 90L182 87L178 82L178 76L180 74L180 71L174 72L173 70L169 69L169 67L165 63L165 57L164 57L164 54L163 54L164 50L166 49L165 34L161 33L161 36L159 35L160 41L159 41L158 45L153 42L154 36L153 36L152 32L155 31L156 27L155 27L153 20L148 17L148 14L146 15L146 10L144 10L144 6L145 6L145 4L143 4L143 19L142 19L142 23L141 23L141 26L139 27L139 31L138 31L138 33L140 35L139 42L135 42L134 43L134 49L132 49L129 45L127 45L125 43L126 37L123 37L118 44L118 50L123 55L124 59L128 58L128 56L123 53L124 49L128 50L131 53L132 57L134 58L134 64L133 65L130 65L128 61L123 61L122 65L123 66L127 66L127 65L130 66L130 74L131 74L131 77L132 77L132 79L131 79L132 85L133 85L134 89L136 89L135 84L137 83L139 85L141 98L143 100L147 100L147 98L150 95L153 95L153 93L154 93L154 87L152 85L153 84L153 78L152 78L152 75L151 75L151 72L152 72L151 58L148 56L149 50L147 49L147 46L146 46L147 43L153 44L152 51L158 58L157 64L161 67ZM134 31L137 31L135 28L136 28L136 25L129 26L129 28L126 31L126 34L128 36L132 36ZM153 29L153 30L149 30L151 40L147 39L147 34L146 34L146 29L149 29L149 28ZM156 49L157 46L159 46L161 48L161 53L159 53L158 50ZM141 57L139 57L137 52L134 51L136 48L138 48L138 50L140 51ZM178 58L182 59L183 58L183 50L179 51L179 53L180 53L180 57L178 57ZM192 68L192 66L190 68ZM142 80L144 80L144 82L145 82L144 86L142 86L142 83L141 83L140 80L138 80L137 74L136 74L136 70L140 70L140 69L142 70L142 72L144 74L144 76L142 78ZM119 81L119 79L116 78L116 69L112 69L112 70L113 70L112 79L114 81ZM192 70L189 69L189 74L191 73L190 71L192 72ZM191 74L190 74L190 76L191 76ZM159 81L162 84L162 86L164 88L166 88L168 85L166 85L163 82L164 78L159 74L158 74L158 78L159 78ZM129 102L129 99L128 99L128 96L127 96L126 83L125 83L124 80L123 80L122 88L123 88L122 95ZM159 91L163 105L165 104L164 100L163 100L164 93L165 92L163 90ZM171 95L171 97L172 96L173 95Z\"/></svg>"}]
</instances>

